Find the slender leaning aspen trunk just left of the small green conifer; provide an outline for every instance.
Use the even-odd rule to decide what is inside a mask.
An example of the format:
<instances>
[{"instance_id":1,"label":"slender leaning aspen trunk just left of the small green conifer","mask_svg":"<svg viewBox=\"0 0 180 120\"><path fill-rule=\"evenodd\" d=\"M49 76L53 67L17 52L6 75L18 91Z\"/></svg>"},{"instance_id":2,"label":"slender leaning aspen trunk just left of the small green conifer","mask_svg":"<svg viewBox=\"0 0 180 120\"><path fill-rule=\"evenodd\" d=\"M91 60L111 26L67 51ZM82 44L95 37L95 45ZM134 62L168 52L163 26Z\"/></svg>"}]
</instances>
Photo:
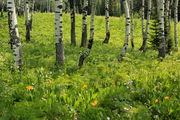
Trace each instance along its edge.
<instances>
[{"instance_id":1,"label":"slender leaning aspen trunk just left of the small green conifer","mask_svg":"<svg viewBox=\"0 0 180 120\"><path fill-rule=\"evenodd\" d=\"M144 33L144 38L143 38L143 43L142 46L139 50L143 50L143 52L146 52L147 48L147 40L148 40L148 35L149 35L149 24L150 24L150 19L151 19L151 3L152 0L148 0L148 13L147 13L147 22L146 22L146 30Z\"/></svg>"}]
</instances>

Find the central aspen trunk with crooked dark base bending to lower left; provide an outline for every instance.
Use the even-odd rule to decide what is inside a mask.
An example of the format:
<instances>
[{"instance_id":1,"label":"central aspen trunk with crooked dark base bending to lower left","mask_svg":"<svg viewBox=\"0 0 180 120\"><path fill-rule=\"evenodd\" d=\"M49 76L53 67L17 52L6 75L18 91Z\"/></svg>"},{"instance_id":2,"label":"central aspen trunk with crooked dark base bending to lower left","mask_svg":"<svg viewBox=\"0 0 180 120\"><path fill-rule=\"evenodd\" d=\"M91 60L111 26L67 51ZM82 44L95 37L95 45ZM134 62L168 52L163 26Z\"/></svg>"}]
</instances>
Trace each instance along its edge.
<instances>
[{"instance_id":1,"label":"central aspen trunk with crooked dark base bending to lower left","mask_svg":"<svg viewBox=\"0 0 180 120\"><path fill-rule=\"evenodd\" d=\"M83 66L84 60L89 56L93 41L94 41L94 16L95 16L96 3L95 0L91 1L91 27L90 27L90 40L86 51L79 58L79 67Z\"/></svg>"}]
</instances>

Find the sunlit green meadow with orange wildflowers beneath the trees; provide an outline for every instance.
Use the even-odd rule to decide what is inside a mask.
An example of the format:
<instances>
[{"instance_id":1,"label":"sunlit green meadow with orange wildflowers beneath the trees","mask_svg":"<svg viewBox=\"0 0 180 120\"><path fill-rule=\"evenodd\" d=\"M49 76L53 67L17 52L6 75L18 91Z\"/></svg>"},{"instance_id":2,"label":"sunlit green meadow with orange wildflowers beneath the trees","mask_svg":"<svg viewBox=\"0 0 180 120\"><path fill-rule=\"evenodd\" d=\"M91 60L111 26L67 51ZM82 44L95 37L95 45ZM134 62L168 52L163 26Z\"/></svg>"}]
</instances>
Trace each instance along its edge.
<instances>
[{"instance_id":1,"label":"sunlit green meadow with orange wildflowers beneath the trees","mask_svg":"<svg viewBox=\"0 0 180 120\"><path fill-rule=\"evenodd\" d=\"M55 65L54 15L36 13L31 41L25 41L25 19L18 18L23 69L13 69L7 15L0 18L0 120L175 120L180 118L180 52L161 61L158 51L139 52L141 21L135 20L135 50L129 45L122 63L117 58L125 39L124 18L95 17L95 40L84 66L78 68L81 19L76 18L77 46L70 46L70 15L63 15L65 65ZM88 17L89 31L90 17ZM179 30L180 31L180 30ZM89 32L88 32L89 36ZM89 37L88 37L89 38Z\"/></svg>"}]
</instances>

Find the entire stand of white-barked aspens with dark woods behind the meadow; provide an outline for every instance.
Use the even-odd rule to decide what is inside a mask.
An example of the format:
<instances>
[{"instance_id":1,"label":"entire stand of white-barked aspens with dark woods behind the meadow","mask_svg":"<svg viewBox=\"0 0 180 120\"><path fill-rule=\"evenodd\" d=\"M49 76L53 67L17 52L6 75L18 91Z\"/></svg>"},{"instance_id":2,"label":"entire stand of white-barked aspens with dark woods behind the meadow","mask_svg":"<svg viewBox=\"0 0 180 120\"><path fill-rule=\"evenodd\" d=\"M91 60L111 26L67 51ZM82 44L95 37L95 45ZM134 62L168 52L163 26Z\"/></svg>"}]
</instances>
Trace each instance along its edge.
<instances>
[{"instance_id":1,"label":"entire stand of white-barked aspens with dark woods behind the meadow","mask_svg":"<svg viewBox=\"0 0 180 120\"><path fill-rule=\"evenodd\" d=\"M6 6L7 3L7 7ZM80 56L79 66L83 65L85 58L90 54L94 41L94 21L95 15L105 15L106 19L106 36L103 43L108 43L110 40L110 25L109 16L120 16L125 14L126 19L126 37L123 48L118 58L123 60L126 55L129 41L131 40L132 50L134 44L134 16L142 18L142 46L140 51L146 52L147 42L149 41L149 27L151 20L154 22L151 30L154 34L151 36L158 51L159 57L165 57L172 49L172 39L170 38L171 21L174 18L174 44L178 51L178 4L179 0L3 0L1 2L1 15L3 16L4 9L8 8L8 20L10 28L10 43L14 51L15 63L18 68L21 68L21 44L19 39L16 11L19 16L25 13L26 16L26 40L30 41L32 30L32 19L34 11L37 12L52 12L55 11L55 31L56 31L56 63L64 64L64 45L63 45L63 12L69 12L71 16L71 45L76 46L76 13L82 14L82 40L81 47L86 47L87 43L87 15L91 14L90 23L90 39L86 51ZM173 7L172 7L173 6ZM11 9L10 9L11 8ZM141 10L141 12L139 11ZM31 11L31 13L30 13ZM174 13L174 14L172 14ZM146 19L146 22L145 22ZM153 33L153 32L152 32Z\"/></svg>"}]
</instances>

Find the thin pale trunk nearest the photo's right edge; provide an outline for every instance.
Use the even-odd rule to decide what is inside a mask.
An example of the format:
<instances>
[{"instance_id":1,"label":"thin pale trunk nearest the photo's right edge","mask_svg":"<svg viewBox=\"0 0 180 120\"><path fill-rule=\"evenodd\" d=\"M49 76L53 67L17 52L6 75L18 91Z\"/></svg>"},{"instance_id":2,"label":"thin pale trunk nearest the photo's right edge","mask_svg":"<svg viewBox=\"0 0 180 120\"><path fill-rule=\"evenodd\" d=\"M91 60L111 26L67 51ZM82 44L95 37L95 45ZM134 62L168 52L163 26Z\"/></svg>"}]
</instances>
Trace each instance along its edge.
<instances>
[{"instance_id":1,"label":"thin pale trunk nearest the photo's right edge","mask_svg":"<svg viewBox=\"0 0 180 120\"><path fill-rule=\"evenodd\" d=\"M178 2L179 0L175 0L174 3L174 40L175 40L175 49L178 51Z\"/></svg>"}]
</instances>

